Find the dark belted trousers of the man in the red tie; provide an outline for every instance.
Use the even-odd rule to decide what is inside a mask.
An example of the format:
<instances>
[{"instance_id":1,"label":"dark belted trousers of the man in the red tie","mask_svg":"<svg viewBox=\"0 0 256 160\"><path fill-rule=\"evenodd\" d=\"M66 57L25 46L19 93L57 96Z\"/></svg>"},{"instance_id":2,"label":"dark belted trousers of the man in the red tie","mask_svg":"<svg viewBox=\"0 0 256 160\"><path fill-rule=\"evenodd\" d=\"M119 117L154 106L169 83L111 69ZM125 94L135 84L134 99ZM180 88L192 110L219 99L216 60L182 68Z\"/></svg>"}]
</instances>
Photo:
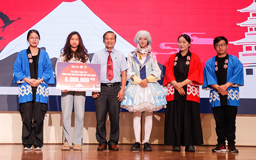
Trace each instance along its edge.
<instances>
[{"instance_id":1,"label":"dark belted trousers of the man in the red tie","mask_svg":"<svg viewBox=\"0 0 256 160\"><path fill-rule=\"evenodd\" d=\"M113 87L101 86L99 97L95 99L95 111L97 119L96 139L102 145L117 145L119 140L119 116L120 103L118 92L120 85ZM109 114L110 119L110 138L107 142L106 119Z\"/></svg>"}]
</instances>

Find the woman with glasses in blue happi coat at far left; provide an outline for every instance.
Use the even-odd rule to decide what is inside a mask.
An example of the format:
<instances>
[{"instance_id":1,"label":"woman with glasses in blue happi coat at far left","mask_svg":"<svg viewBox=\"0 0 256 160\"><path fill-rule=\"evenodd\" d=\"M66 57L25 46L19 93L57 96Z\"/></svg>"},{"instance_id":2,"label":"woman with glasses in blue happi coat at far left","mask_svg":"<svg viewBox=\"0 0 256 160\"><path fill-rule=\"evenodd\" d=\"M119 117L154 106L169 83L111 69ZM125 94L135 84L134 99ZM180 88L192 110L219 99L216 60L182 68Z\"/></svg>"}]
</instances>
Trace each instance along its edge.
<instances>
[{"instance_id":1,"label":"woman with glasses in blue happi coat at far left","mask_svg":"<svg viewBox=\"0 0 256 160\"><path fill-rule=\"evenodd\" d=\"M13 65L14 83L18 83L19 112L23 122L23 150L41 150L44 143L44 117L49 98L48 84L53 85L54 74L46 51L37 47L40 35L30 30L29 47L18 53Z\"/></svg>"}]
</instances>

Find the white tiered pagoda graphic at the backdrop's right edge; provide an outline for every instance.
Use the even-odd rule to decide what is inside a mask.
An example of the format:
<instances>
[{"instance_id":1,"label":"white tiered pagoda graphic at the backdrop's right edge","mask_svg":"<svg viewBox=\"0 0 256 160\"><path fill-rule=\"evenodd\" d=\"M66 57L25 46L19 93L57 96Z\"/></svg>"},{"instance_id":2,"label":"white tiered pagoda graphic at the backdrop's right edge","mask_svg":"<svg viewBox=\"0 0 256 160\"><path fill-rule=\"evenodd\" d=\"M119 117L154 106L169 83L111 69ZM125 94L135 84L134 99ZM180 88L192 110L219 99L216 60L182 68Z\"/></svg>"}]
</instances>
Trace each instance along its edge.
<instances>
[{"instance_id":1,"label":"white tiered pagoda graphic at the backdrop's right edge","mask_svg":"<svg viewBox=\"0 0 256 160\"><path fill-rule=\"evenodd\" d=\"M240 87L240 98L255 99L256 90L256 2L246 8L237 10L241 13L249 13L250 17L243 23L237 23L241 27L247 27L248 32L245 32L245 38L234 42L229 42L234 45L243 45L243 52L239 53L239 60L243 63L244 86Z\"/></svg>"}]
</instances>

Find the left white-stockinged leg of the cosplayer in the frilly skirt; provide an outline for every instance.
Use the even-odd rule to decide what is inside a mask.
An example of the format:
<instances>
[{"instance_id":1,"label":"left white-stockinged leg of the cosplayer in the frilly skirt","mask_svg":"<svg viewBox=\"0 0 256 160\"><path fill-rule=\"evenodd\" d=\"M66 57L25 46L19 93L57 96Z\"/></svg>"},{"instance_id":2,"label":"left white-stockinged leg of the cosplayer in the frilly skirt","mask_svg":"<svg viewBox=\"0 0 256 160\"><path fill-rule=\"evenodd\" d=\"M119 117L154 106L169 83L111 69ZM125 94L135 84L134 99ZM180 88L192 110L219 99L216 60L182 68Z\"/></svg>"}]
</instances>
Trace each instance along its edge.
<instances>
[{"instance_id":1,"label":"left white-stockinged leg of the cosplayer in the frilly skirt","mask_svg":"<svg viewBox=\"0 0 256 160\"><path fill-rule=\"evenodd\" d=\"M133 130L135 135L135 140L141 143L141 112L133 112Z\"/></svg>"}]
</instances>

